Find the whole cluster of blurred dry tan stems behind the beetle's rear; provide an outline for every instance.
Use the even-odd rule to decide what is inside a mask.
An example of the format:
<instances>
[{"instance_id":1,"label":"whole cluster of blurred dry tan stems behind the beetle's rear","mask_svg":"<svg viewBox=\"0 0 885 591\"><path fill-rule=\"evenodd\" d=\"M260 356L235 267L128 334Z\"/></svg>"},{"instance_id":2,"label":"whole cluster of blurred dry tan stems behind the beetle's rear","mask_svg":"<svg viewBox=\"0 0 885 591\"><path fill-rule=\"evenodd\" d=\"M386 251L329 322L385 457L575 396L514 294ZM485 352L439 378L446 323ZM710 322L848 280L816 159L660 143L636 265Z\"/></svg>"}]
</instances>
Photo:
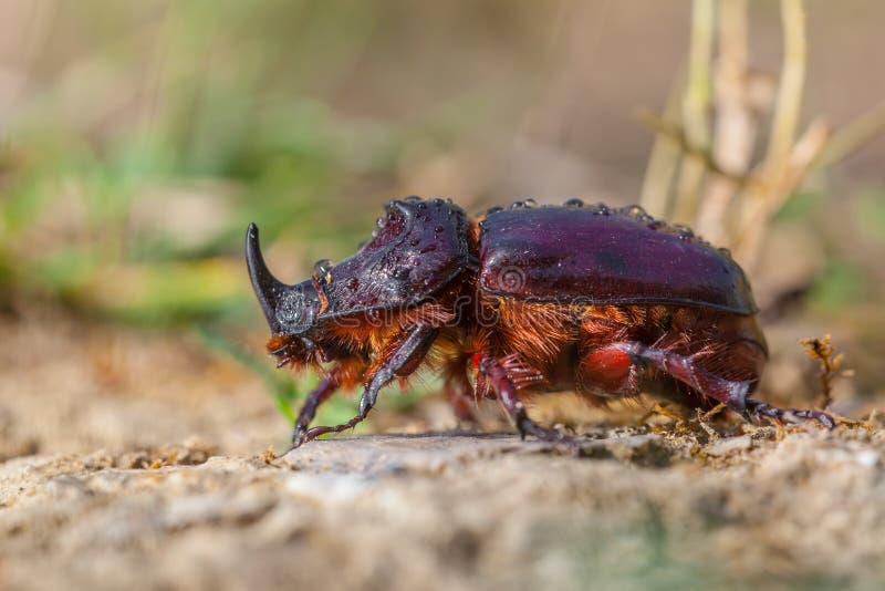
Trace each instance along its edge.
<instances>
[{"instance_id":1,"label":"whole cluster of blurred dry tan stems behind the beetle's rear","mask_svg":"<svg viewBox=\"0 0 885 591\"><path fill-rule=\"evenodd\" d=\"M796 139L806 68L805 9L804 0L781 0L783 65L764 158L753 166L759 118L769 111L772 92L760 86L762 76L750 72L747 4L747 0L715 6L711 0L695 0L681 122L671 102L663 117L644 112L639 120L656 134L642 204L649 211L693 224L707 239L731 248L735 258L752 272L772 217L810 170L839 162L885 132L885 103L835 135L818 118ZM714 9L720 11L718 23ZM714 25L719 32L719 61L716 103L711 105ZM715 129L708 120L711 106ZM674 148L681 154L681 168L671 204L670 185L678 160ZM705 180L707 193L698 201Z\"/></svg>"}]
</instances>

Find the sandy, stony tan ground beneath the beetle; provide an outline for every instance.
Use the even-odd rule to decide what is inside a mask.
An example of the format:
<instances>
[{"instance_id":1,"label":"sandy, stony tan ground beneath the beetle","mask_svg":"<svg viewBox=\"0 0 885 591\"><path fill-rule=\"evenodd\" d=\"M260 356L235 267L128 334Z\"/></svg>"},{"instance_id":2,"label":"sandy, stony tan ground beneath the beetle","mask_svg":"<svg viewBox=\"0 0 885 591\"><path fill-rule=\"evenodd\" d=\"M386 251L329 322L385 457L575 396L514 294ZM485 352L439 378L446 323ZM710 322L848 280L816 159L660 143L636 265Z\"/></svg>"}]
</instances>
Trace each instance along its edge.
<instances>
[{"instance_id":1,"label":"sandy, stony tan ground beneath the beetle","mask_svg":"<svg viewBox=\"0 0 885 591\"><path fill-rule=\"evenodd\" d=\"M195 342L2 328L2 589L885 584L877 422L597 426L581 458L365 435L271 459L287 428L261 385Z\"/></svg>"}]
</instances>

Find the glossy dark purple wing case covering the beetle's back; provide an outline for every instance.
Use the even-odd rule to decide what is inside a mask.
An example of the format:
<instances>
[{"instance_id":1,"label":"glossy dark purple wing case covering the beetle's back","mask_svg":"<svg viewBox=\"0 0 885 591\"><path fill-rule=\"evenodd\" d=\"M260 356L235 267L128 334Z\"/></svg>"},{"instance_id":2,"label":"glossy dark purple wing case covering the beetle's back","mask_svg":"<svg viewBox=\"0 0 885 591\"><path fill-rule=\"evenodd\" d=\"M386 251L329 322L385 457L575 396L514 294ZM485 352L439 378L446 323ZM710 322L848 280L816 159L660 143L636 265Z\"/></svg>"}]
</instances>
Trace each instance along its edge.
<instances>
[{"instance_id":1,"label":"glossy dark purple wing case covering the beetle's back","mask_svg":"<svg viewBox=\"0 0 885 591\"><path fill-rule=\"evenodd\" d=\"M534 301L758 311L726 251L637 207L494 211L481 225L480 286Z\"/></svg>"}]
</instances>

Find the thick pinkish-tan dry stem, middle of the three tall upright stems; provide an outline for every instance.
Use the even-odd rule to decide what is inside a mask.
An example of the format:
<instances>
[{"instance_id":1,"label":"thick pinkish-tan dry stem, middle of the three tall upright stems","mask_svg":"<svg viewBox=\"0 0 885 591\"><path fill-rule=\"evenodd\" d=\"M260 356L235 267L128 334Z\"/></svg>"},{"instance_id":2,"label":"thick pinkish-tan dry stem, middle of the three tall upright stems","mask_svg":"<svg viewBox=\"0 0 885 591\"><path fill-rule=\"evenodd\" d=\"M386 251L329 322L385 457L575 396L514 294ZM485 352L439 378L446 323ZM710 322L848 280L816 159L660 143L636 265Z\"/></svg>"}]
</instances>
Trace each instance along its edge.
<instances>
[{"instance_id":1,"label":"thick pinkish-tan dry stem, middle of the three tall upright stems","mask_svg":"<svg viewBox=\"0 0 885 591\"><path fill-rule=\"evenodd\" d=\"M747 29L746 0L729 0L719 4L712 160L736 176L746 175L750 167L758 125L748 97ZM721 175L708 180L707 191L698 204L698 234L714 243L728 241L729 206L737 190L736 184Z\"/></svg>"}]
</instances>

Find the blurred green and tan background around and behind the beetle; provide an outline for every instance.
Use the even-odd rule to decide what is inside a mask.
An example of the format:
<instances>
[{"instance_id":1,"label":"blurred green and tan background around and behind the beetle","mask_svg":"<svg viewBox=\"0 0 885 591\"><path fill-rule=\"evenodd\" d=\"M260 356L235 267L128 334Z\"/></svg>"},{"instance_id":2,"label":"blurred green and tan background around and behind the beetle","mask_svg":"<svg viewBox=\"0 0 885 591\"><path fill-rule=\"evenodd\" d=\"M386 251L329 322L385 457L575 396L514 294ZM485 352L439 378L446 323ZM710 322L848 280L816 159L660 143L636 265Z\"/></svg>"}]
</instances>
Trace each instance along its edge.
<instances>
[{"instance_id":1,"label":"blurred green and tan background around and behind the beetle","mask_svg":"<svg viewBox=\"0 0 885 591\"><path fill-rule=\"evenodd\" d=\"M750 273L763 396L815 404L832 333L834 409L876 407L885 4L712 7L0 1L0 457L284 444L311 377L263 353L247 224L295 281L410 194L690 224ZM366 428L455 426L425 382Z\"/></svg>"}]
</instances>

